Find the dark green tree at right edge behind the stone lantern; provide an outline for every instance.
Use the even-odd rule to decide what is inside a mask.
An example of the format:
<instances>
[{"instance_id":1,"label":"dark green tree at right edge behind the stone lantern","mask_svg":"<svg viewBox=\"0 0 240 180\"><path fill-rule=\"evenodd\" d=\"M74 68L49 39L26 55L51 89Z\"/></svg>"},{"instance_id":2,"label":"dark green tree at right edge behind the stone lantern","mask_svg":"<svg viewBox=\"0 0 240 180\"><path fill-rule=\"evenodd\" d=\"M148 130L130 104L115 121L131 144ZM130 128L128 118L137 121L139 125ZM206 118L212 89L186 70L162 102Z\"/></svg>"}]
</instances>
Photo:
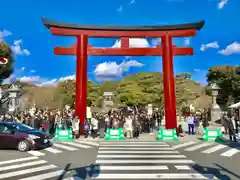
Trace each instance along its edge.
<instances>
[{"instance_id":1,"label":"dark green tree at right edge behind the stone lantern","mask_svg":"<svg viewBox=\"0 0 240 180\"><path fill-rule=\"evenodd\" d=\"M218 98L220 104L226 104L229 101L237 102L240 100L239 66L212 67L207 73L207 81L209 85L216 83L221 88Z\"/></svg>"}]
</instances>

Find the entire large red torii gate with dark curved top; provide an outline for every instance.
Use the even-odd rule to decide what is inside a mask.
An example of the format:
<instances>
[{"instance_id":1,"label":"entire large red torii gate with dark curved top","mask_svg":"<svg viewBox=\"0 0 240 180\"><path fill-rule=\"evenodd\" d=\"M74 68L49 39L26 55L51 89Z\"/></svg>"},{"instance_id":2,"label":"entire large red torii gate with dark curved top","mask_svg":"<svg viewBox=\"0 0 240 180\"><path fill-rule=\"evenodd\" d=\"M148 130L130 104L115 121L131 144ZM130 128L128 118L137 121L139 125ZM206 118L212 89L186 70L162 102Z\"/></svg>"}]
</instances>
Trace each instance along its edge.
<instances>
[{"instance_id":1,"label":"entire large red torii gate with dark curved top","mask_svg":"<svg viewBox=\"0 0 240 180\"><path fill-rule=\"evenodd\" d=\"M166 128L177 127L176 96L173 72L173 56L193 55L189 47L176 47L173 37L195 36L204 26L204 21L166 26L95 26L77 25L42 19L43 24L56 36L76 36L77 44L72 47L55 47L56 55L77 56L76 67L76 115L80 117L81 128L86 118L87 102L87 58L90 56L162 56L164 82L164 108ZM88 37L121 38L121 48L94 48L88 44ZM155 48L129 48L129 38L159 38L161 46ZM80 130L81 131L81 130ZM82 132L82 131L81 131Z\"/></svg>"}]
</instances>

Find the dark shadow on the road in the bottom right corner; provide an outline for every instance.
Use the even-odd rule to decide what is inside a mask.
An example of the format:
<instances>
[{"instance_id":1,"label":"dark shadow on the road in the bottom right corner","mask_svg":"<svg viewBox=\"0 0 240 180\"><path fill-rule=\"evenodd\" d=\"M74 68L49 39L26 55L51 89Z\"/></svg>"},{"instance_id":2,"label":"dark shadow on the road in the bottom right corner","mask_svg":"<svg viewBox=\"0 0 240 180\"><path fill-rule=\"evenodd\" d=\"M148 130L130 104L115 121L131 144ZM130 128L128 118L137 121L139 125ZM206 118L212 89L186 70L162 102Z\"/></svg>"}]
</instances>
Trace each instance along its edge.
<instances>
[{"instance_id":1,"label":"dark shadow on the road in the bottom right corner","mask_svg":"<svg viewBox=\"0 0 240 180\"><path fill-rule=\"evenodd\" d=\"M240 176L235 174L234 172L232 171L229 171L228 169L224 168L223 166L219 165L219 164L215 164L215 166L217 166L216 168L214 167L207 167L207 166L200 166L198 164L194 164L192 165L192 168L206 176L208 179L213 179L213 177L216 177L218 178L219 180L239 180L240 179ZM229 175L231 176L229 176Z\"/></svg>"}]
</instances>

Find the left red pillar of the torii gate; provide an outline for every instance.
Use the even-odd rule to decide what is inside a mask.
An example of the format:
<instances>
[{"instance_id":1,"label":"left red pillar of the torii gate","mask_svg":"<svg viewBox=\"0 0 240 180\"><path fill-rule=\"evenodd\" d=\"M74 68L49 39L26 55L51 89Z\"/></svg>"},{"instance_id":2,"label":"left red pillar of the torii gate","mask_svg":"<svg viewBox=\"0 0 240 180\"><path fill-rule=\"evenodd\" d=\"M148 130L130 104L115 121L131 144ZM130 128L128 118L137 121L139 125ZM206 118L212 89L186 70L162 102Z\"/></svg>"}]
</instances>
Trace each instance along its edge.
<instances>
[{"instance_id":1,"label":"left red pillar of the torii gate","mask_svg":"<svg viewBox=\"0 0 240 180\"><path fill-rule=\"evenodd\" d=\"M76 97L75 110L80 118L79 133L83 134L83 127L87 110L87 48L88 37L80 35L77 37L77 67L76 67ZM74 48L73 48L74 49Z\"/></svg>"}]
</instances>

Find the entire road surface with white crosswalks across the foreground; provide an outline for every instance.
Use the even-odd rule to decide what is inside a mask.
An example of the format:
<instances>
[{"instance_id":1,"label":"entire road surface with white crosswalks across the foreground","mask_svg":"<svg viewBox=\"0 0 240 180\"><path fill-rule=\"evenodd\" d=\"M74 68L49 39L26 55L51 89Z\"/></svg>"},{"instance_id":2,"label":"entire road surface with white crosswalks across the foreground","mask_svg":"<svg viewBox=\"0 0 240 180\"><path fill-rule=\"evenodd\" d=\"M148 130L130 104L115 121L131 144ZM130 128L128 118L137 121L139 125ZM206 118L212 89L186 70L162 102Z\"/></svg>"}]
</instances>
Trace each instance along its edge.
<instances>
[{"instance_id":1,"label":"entire road surface with white crosswalks across the foreground","mask_svg":"<svg viewBox=\"0 0 240 180\"><path fill-rule=\"evenodd\" d=\"M239 144L189 142L80 140L41 151L2 150L0 179L240 179Z\"/></svg>"}]
</instances>

